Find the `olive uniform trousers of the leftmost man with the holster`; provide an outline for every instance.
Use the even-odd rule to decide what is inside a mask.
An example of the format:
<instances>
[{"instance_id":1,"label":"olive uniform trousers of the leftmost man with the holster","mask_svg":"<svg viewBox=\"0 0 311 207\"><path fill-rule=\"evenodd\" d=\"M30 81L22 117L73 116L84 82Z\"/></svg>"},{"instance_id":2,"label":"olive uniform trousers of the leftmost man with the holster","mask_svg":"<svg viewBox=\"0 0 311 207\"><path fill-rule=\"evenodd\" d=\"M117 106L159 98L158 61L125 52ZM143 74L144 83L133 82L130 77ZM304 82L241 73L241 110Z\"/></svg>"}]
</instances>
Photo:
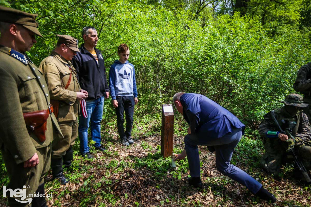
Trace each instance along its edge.
<instances>
[{"instance_id":1,"label":"olive uniform trousers of the leftmost man with the holster","mask_svg":"<svg viewBox=\"0 0 311 207\"><path fill-rule=\"evenodd\" d=\"M44 183L44 176L50 169L51 163L51 144L47 147L36 149L39 157L39 164L32 168L24 168L24 163L16 164L14 157L5 148L2 148L2 158L4 160L5 166L7 168L7 173L10 178L10 182L7 188L7 197L9 205L11 207L15 206L31 206L29 203L20 203L17 200L26 201L28 198L33 198L29 194L34 194L38 186ZM10 191L8 188L15 190L17 188L26 190L26 198L22 200L23 197L10 197Z\"/></svg>"}]
</instances>

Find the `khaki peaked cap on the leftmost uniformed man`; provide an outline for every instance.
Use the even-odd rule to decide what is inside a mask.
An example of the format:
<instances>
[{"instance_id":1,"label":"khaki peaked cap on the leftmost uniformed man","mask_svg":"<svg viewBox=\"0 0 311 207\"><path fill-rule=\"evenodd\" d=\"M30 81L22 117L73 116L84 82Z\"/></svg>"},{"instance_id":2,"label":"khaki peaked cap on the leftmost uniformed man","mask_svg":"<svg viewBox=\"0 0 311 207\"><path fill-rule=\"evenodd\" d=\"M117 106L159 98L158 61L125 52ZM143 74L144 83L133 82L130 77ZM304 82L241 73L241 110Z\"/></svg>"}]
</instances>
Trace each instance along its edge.
<instances>
[{"instance_id":1,"label":"khaki peaked cap on the leftmost uniformed man","mask_svg":"<svg viewBox=\"0 0 311 207\"><path fill-rule=\"evenodd\" d=\"M37 16L37 14L0 6L0 22L23 25L26 29L42 37L42 34L37 29L39 24L35 21Z\"/></svg>"}]
</instances>

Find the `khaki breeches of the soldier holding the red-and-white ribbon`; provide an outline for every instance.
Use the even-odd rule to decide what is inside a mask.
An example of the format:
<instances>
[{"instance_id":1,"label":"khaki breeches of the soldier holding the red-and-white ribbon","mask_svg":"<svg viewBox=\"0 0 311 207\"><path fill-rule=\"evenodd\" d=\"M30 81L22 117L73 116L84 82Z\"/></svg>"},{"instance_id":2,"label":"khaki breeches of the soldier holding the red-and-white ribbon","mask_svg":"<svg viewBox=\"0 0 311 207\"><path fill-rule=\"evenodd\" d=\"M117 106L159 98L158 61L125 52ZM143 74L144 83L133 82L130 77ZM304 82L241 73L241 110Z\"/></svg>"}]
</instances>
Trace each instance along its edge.
<instances>
[{"instance_id":1,"label":"khaki breeches of the soldier holding the red-and-white ribbon","mask_svg":"<svg viewBox=\"0 0 311 207\"><path fill-rule=\"evenodd\" d=\"M70 122L58 122L64 138L57 137L52 142L52 158L60 158L72 147L78 136L78 119Z\"/></svg>"}]
</instances>

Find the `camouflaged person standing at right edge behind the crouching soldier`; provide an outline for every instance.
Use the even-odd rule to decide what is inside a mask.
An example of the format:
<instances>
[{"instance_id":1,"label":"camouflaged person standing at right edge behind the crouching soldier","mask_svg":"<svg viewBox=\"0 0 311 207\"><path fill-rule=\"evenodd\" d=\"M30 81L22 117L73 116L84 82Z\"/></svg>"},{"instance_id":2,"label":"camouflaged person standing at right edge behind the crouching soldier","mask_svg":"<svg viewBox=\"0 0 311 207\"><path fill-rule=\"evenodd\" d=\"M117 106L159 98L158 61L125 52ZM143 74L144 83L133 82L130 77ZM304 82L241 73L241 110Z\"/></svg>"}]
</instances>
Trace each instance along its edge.
<instances>
[{"instance_id":1,"label":"camouflaged person standing at right edge behind the crouching soldier","mask_svg":"<svg viewBox=\"0 0 311 207\"><path fill-rule=\"evenodd\" d=\"M304 113L307 114L309 122L311 121L311 62L300 67L294 89L297 92L304 94L304 103L309 104L304 108Z\"/></svg>"}]
</instances>

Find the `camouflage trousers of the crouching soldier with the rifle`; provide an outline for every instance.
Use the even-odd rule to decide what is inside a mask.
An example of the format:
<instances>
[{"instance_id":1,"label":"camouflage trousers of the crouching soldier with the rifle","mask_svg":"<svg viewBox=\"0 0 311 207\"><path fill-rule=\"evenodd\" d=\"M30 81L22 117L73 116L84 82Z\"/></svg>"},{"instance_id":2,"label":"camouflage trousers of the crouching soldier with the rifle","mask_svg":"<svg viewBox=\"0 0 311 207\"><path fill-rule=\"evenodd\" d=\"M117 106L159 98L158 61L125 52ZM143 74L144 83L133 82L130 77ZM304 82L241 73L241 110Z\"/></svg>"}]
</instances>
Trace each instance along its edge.
<instances>
[{"instance_id":1,"label":"camouflage trousers of the crouching soldier with the rifle","mask_svg":"<svg viewBox=\"0 0 311 207\"><path fill-rule=\"evenodd\" d=\"M278 175L283 163L294 161L290 159L291 154L286 153L288 145L286 142L280 140L279 138L267 138L265 140L265 154L260 160L260 165L268 173L275 173ZM304 167L307 170L311 169L311 146L308 145L299 145L295 146L296 154L300 161L304 164Z\"/></svg>"}]
</instances>

